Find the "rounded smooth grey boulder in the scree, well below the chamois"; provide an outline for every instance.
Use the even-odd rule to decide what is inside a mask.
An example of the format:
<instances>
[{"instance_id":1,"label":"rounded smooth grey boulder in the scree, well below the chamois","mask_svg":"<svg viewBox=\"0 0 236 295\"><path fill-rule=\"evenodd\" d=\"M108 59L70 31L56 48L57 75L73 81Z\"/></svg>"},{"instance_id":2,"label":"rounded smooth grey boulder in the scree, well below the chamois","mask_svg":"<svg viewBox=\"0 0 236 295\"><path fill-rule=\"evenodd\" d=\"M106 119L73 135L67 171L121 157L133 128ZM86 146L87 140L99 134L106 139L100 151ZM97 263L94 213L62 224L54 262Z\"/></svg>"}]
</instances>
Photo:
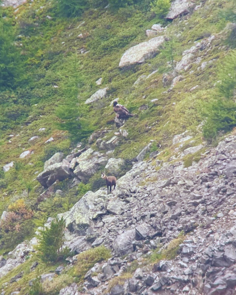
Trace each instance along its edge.
<instances>
[{"instance_id":1,"label":"rounded smooth grey boulder in the scree, well below the chamois","mask_svg":"<svg viewBox=\"0 0 236 295\"><path fill-rule=\"evenodd\" d=\"M114 242L114 251L120 255L125 255L133 251L132 241L135 240L135 230L127 230L121 235L118 235Z\"/></svg>"}]
</instances>

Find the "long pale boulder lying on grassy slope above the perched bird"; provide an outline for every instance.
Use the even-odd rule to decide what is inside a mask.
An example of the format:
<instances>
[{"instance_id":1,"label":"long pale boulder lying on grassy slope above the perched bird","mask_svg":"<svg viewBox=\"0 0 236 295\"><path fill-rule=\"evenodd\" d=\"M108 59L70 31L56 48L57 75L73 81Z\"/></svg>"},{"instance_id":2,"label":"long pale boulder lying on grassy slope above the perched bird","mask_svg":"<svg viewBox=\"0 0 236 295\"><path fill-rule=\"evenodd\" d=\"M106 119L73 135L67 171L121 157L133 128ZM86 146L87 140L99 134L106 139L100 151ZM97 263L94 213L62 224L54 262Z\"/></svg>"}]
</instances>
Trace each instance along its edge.
<instances>
[{"instance_id":1,"label":"long pale boulder lying on grassy slope above the perched bird","mask_svg":"<svg viewBox=\"0 0 236 295\"><path fill-rule=\"evenodd\" d=\"M158 52L160 45L164 41L165 38L163 36L158 36L129 48L122 55L119 67L122 68L135 63L143 63L146 59L153 57Z\"/></svg>"}]
</instances>

